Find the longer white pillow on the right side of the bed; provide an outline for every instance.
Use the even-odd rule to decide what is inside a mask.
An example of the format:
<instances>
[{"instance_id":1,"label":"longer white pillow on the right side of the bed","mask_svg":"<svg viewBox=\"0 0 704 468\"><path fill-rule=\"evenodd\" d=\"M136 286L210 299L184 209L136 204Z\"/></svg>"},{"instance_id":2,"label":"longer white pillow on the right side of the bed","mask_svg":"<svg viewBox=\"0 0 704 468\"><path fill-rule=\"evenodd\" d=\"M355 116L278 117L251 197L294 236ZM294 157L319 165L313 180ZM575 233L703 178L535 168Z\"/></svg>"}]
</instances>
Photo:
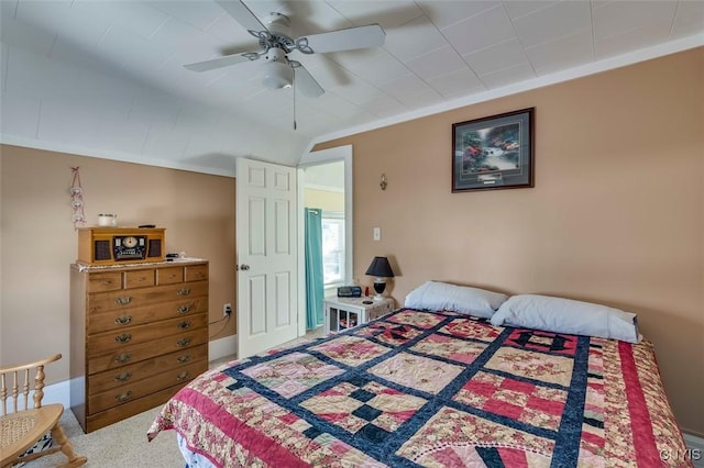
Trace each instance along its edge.
<instances>
[{"instance_id":1,"label":"longer white pillow on the right side of the bed","mask_svg":"<svg viewBox=\"0 0 704 468\"><path fill-rule=\"evenodd\" d=\"M510 325L571 335L638 343L635 313L606 305L539 294L510 297L492 316L493 325Z\"/></svg>"}]
</instances>

